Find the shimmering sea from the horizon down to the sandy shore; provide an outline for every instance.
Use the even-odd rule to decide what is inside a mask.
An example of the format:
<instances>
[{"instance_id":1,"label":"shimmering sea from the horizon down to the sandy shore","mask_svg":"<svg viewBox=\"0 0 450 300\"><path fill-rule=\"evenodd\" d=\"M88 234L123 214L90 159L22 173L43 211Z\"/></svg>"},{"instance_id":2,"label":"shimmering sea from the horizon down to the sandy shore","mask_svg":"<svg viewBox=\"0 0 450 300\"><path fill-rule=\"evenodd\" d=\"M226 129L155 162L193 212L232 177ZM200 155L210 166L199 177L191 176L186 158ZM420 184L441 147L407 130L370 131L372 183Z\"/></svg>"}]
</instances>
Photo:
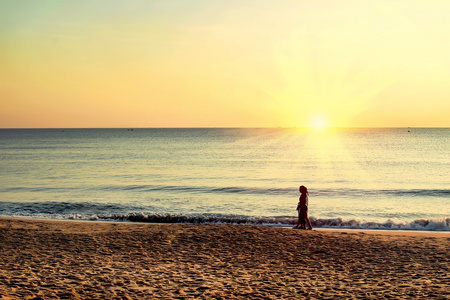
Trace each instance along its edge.
<instances>
[{"instance_id":1,"label":"shimmering sea from the horizon down to the sandy shore","mask_svg":"<svg viewBox=\"0 0 450 300\"><path fill-rule=\"evenodd\" d=\"M450 129L4 129L0 216L450 230Z\"/></svg>"}]
</instances>

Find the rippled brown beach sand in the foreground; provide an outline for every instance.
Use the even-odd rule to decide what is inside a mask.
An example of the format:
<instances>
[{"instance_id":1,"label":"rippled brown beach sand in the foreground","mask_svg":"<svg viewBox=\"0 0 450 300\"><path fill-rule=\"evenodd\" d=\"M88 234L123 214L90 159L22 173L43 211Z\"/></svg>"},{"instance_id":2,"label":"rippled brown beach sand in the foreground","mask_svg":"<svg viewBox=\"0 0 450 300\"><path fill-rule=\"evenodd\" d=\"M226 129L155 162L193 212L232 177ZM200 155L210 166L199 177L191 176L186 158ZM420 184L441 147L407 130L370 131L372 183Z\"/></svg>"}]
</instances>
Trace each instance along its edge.
<instances>
[{"instance_id":1,"label":"rippled brown beach sand in the foreground","mask_svg":"<svg viewBox=\"0 0 450 300\"><path fill-rule=\"evenodd\" d=\"M0 220L0 299L449 299L450 236Z\"/></svg>"}]
</instances>

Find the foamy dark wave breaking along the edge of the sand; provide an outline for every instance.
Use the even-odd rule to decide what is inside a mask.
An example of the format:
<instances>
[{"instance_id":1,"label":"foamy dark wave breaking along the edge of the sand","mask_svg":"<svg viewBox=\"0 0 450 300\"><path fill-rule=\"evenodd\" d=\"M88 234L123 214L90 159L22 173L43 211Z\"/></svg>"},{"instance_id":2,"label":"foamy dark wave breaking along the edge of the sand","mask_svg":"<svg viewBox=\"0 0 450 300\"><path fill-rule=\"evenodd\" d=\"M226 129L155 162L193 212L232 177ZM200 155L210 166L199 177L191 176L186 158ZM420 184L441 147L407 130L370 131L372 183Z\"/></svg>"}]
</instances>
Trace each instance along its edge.
<instances>
[{"instance_id":1,"label":"foamy dark wave breaking along the edge of the sand","mask_svg":"<svg viewBox=\"0 0 450 300\"><path fill-rule=\"evenodd\" d=\"M123 203L98 202L0 202L0 217L21 217L33 219L69 219L94 221L124 221L146 223L186 223L186 224L249 224L264 226L292 226L295 215L251 216L232 213L157 213L161 209ZM162 210L164 211L164 210ZM336 212L339 215L338 212ZM316 218L310 216L314 227L385 230L426 230L450 231L450 218L403 220L364 220L361 216L352 218Z\"/></svg>"}]
</instances>

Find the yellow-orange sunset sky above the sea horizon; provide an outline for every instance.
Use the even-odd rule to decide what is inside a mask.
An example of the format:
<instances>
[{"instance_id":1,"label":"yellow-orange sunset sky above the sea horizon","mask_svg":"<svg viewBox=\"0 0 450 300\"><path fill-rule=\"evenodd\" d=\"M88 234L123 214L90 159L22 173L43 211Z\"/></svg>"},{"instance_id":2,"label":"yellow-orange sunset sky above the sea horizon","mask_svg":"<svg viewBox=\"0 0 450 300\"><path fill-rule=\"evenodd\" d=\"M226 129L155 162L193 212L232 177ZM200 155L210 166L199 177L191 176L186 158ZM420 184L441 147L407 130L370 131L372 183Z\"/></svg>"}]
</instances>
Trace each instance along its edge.
<instances>
[{"instance_id":1,"label":"yellow-orange sunset sky above the sea horizon","mask_svg":"<svg viewBox=\"0 0 450 300\"><path fill-rule=\"evenodd\" d=\"M0 128L450 127L448 0L0 0Z\"/></svg>"}]
</instances>

